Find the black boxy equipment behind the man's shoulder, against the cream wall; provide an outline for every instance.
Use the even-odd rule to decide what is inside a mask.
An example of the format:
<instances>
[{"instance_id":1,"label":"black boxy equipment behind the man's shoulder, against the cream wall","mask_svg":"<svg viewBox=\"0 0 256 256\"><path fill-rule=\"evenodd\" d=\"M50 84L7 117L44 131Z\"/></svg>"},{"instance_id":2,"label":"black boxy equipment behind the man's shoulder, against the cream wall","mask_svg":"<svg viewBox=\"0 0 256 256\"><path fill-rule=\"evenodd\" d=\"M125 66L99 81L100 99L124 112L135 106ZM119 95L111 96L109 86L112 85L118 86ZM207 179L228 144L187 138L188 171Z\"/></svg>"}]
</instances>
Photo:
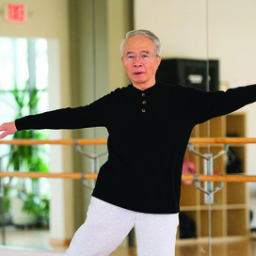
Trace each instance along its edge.
<instances>
[{"instance_id":1,"label":"black boxy equipment behind the man's shoulder, against the cream wall","mask_svg":"<svg viewBox=\"0 0 256 256\"><path fill-rule=\"evenodd\" d=\"M219 89L218 60L209 60L209 90ZM162 59L155 76L170 85L207 90L207 62L199 59Z\"/></svg>"}]
</instances>

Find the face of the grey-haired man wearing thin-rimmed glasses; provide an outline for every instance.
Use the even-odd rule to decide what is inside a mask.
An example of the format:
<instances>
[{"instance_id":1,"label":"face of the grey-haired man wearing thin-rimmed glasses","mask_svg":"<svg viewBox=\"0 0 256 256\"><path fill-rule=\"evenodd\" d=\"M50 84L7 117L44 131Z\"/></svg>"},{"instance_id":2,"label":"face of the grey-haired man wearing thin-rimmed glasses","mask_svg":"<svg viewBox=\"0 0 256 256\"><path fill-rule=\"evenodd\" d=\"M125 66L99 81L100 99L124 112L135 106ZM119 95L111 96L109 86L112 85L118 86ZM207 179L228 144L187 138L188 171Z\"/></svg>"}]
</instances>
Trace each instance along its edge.
<instances>
[{"instance_id":1,"label":"face of the grey-haired man wearing thin-rimmed glasses","mask_svg":"<svg viewBox=\"0 0 256 256\"><path fill-rule=\"evenodd\" d=\"M129 60L127 56L136 55L135 59ZM149 55L148 60L140 59L141 55ZM135 36L126 41L124 56L121 58L125 72L128 74L136 88L150 88L155 84L155 72L161 62L160 56L154 56L152 40Z\"/></svg>"}]
</instances>

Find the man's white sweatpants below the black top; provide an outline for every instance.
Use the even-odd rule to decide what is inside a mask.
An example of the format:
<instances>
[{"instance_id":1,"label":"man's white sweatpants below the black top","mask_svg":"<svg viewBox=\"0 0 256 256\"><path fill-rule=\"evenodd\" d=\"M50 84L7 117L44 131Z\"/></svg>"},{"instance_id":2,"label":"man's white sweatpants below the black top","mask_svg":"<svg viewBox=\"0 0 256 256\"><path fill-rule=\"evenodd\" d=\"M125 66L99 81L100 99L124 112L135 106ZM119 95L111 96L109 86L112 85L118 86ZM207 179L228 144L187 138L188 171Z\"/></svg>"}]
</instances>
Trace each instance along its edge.
<instances>
[{"instance_id":1,"label":"man's white sweatpants below the black top","mask_svg":"<svg viewBox=\"0 0 256 256\"><path fill-rule=\"evenodd\" d=\"M65 256L107 256L132 228L138 256L174 256L178 224L178 214L141 214L92 197L87 220L75 232Z\"/></svg>"}]
</instances>

